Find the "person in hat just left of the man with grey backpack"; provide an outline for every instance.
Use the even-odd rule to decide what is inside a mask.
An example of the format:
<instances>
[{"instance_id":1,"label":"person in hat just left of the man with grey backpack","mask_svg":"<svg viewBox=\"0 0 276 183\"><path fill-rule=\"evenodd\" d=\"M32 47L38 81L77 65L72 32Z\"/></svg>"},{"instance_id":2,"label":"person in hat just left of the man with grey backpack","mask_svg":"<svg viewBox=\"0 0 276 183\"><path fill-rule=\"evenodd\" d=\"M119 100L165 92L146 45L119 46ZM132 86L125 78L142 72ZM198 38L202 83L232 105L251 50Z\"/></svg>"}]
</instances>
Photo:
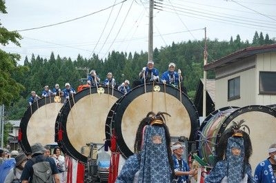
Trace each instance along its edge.
<instances>
[{"instance_id":1,"label":"person in hat just left of the man with grey backpack","mask_svg":"<svg viewBox=\"0 0 276 183\"><path fill-rule=\"evenodd\" d=\"M21 177L23 168L28 160L28 157L24 153L21 153L14 158L16 162L15 167L10 170L4 183L21 182L20 177Z\"/></svg>"}]
</instances>

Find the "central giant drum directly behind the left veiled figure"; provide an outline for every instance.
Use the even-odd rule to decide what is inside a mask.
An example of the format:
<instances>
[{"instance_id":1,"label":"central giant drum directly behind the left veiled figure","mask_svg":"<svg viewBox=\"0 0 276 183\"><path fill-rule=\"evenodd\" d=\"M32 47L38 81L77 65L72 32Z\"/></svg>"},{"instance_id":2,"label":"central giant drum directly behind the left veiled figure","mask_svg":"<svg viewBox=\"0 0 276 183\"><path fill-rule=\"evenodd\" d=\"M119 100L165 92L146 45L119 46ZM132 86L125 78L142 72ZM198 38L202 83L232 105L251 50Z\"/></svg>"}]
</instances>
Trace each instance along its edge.
<instances>
[{"instance_id":1,"label":"central giant drum directly behind the left veiled figure","mask_svg":"<svg viewBox=\"0 0 276 183\"><path fill-rule=\"evenodd\" d=\"M185 136L195 141L199 116L190 99L179 89L166 84L146 84L133 88L112 107L106 120L106 139L117 136L117 146L124 157L133 154L135 135L141 119L148 112L166 112L166 125L172 137Z\"/></svg>"}]
</instances>

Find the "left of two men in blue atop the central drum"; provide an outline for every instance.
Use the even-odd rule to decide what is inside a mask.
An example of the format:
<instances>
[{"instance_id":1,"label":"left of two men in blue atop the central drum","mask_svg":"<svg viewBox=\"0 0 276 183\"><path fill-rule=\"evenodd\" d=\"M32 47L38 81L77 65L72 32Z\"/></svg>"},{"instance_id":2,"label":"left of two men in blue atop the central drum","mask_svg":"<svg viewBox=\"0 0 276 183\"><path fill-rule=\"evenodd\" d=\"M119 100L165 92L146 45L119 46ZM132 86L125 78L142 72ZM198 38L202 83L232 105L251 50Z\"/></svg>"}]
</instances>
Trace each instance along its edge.
<instances>
[{"instance_id":1,"label":"left of two men in blue atop the central drum","mask_svg":"<svg viewBox=\"0 0 276 183\"><path fill-rule=\"evenodd\" d=\"M141 70L141 73L139 73L142 84L145 82L149 83L153 81L159 81L159 71L157 68L154 68L154 65L155 63L152 60L148 61L147 66Z\"/></svg>"}]
</instances>

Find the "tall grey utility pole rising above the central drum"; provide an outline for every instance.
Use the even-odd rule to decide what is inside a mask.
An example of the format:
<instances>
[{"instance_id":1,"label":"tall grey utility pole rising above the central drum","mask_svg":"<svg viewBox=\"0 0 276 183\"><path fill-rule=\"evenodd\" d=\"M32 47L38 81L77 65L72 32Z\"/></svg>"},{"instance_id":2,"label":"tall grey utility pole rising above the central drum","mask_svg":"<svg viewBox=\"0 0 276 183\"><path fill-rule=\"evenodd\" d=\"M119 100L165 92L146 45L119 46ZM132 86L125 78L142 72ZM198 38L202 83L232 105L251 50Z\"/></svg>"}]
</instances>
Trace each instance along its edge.
<instances>
[{"instance_id":1,"label":"tall grey utility pole rising above the central drum","mask_svg":"<svg viewBox=\"0 0 276 183\"><path fill-rule=\"evenodd\" d=\"M150 0L150 16L148 25L148 61L152 60L153 55L153 6L155 1Z\"/></svg>"}]
</instances>

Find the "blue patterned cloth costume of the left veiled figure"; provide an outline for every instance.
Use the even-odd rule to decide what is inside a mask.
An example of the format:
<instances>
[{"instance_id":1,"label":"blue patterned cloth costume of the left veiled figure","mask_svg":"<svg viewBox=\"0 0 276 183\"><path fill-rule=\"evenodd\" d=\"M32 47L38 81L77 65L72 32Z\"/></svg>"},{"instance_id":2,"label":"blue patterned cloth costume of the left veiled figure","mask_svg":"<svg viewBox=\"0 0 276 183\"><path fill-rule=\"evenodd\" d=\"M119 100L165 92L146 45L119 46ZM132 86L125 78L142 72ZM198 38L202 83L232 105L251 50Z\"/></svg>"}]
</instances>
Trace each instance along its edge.
<instances>
[{"instance_id":1,"label":"blue patterned cloth costume of the left veiled figure","mask_svg":"<svg viewBox=\"0 0 276 183\"><path fill-rule=\"evenodd\" d=\"M132 183L135 173L138 171L139 183L171 182L171 171L163 127L145 126L141 152L130 156L126 160L116 183Z\"/></svg>"}]
</instances>

